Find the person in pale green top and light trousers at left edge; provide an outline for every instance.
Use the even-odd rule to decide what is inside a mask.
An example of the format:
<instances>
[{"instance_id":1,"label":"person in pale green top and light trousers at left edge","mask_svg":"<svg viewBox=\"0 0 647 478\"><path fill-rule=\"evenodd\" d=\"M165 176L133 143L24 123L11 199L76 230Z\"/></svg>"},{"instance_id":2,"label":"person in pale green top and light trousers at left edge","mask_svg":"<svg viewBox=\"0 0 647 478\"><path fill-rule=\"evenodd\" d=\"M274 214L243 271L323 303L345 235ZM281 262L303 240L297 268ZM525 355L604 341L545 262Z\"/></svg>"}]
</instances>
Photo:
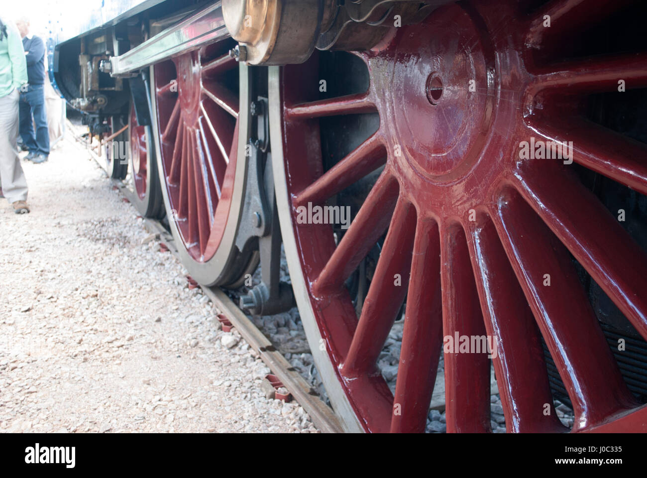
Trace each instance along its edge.
<instances>
[{"instance_id":1,"label":"person in pale green top and light trousers at left edge","mask_svg":"<svg viewBox=\"0 0 647 478\"><path fill-rule=\"evenodd\" d=\"M14 23L0 17L0 197L14 206L16 214L29 212L27 179L16 150L18 100L27 84L27 61L23 41Z\"/></svg>"}]
</instances>

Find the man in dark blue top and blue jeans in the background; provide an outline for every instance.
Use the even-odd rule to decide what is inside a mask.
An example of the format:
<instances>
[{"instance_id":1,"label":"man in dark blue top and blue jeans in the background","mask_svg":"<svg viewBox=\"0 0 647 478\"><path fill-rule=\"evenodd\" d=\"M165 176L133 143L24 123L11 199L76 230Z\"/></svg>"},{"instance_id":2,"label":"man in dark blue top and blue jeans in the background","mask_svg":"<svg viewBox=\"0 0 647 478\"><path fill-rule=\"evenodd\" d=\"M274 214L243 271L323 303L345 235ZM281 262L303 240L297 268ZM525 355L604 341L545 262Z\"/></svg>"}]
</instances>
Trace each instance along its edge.
<instances>
[{"instance_id":1,"label":"man in dark blue top and blue jeans in the background","mask_svg":"<svg viewBox=\"0 0 647 478\"><path fill-rule=\"evenodd\" d=\"M45 111L45 43L38 36L29 34L29 21L21 18L16 22L23 37L27 76L29 83L20 91L20 135L27 146L27 159L33 163L44 163L49 158L49 129ZM33 119L32 119L33 115ZM36 124L34 135L33 124Z\"/></svg>"}]
</instances>

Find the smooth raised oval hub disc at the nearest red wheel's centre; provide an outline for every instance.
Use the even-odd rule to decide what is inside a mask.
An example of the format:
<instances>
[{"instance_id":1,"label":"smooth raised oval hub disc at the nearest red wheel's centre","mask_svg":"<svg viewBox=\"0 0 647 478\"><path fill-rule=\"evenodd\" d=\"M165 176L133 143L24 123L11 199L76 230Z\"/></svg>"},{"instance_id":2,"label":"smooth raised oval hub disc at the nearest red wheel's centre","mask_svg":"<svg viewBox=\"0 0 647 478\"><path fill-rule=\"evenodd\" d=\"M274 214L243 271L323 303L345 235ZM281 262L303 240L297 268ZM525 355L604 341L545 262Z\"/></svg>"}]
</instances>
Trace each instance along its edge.
<instances>
[{"instance_id":1,"label":"smooth raised oval hub disc at the nearest red wheel's centre","mask_svg":"<svg viewBox=\"0 0 647 478\"><path fill-rule=\"evenodd\" d=\"M402 114L395 115L393 133L414 168L446 179L481 152L488 65L481 34L465 10L449 6L432 15L430 24L411 28L395 46L391 104Z\"/></svg>"}]
</instances>

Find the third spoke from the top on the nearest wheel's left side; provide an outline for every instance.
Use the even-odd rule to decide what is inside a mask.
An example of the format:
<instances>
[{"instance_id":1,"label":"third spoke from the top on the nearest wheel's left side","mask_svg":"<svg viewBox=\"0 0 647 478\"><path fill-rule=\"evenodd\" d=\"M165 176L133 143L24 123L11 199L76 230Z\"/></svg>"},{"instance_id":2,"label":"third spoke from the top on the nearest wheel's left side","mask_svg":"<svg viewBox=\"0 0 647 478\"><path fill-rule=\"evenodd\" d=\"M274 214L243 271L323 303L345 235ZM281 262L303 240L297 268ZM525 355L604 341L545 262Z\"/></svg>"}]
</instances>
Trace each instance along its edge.
<instances>
[{"instance_id":1,"label":"third spoke from the top on the nearest wheel's left side","mask_svg":"<svg viewBox=\"0 0 647 478\"><path fill-rule=\"evenodd\" d=\"M398 197L398 184L385 170L369 193L340 241L323 267L313 290L318 294L333 293L357 268L389 224Z\"/></svg>"}]
</instances>

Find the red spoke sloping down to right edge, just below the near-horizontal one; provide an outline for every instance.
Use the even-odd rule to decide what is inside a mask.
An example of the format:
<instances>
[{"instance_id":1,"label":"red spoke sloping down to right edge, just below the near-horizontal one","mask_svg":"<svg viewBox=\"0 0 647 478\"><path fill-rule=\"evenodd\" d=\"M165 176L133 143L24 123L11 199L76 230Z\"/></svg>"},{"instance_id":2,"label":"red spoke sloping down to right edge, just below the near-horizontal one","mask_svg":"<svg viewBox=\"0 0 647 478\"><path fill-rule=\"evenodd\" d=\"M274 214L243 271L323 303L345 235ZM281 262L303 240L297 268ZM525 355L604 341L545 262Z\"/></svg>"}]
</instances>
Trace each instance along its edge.
<instances>
[{"instance_id":1,"label":"red spoke sloping down to right edge, just below the near-horizontal one","mask_svg":"<svg viewBox=\"0 0 647 478\"><path fill-rule=\"evenodd\" d=\"M647 194L647 146L593 122L534 124L547 141L573 141L573 161Z\"/></svg>"}]
</instances>

